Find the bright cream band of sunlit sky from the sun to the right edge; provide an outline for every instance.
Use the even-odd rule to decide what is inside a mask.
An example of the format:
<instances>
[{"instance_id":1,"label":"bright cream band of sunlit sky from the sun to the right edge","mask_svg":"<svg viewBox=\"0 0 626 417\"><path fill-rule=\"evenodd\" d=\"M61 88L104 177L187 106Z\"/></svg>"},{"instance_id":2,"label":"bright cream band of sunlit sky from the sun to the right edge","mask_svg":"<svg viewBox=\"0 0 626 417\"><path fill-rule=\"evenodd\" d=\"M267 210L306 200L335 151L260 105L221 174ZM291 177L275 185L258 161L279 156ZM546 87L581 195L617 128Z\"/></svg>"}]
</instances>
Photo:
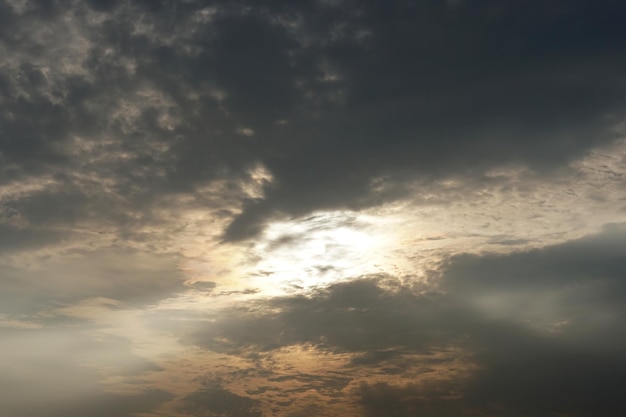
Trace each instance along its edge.
<instances>
[{"instance_id":1,"label":"bright cream band of sunlit sky from the sun to the right edge","mask_svg":"<svg viewBox=\"0 0 626 417\"><path fill-rule=\"evenodd\" d=\"M504 167L489 173L490 185L479 189L461 178L430 187L409 184L426 197L359 212L329 210L276 218L254 239L230 244L219 244L219 235L206 229L228 219L206 218L210 215L204 213L203 221L186 226L193 233L179 236L177 245L186 248L182 269L192 286L215 284L212 305L306 293L371 274L423 282L436 275L440 262L451 253L542 247L593 233L608 219L619 218L623 153L623 144L618 144L576 161L571 166L574 179L555 175L546 182L526 170ZM608 173L599 170L602 166ZM243 191L260 196L262 184L271 183L272 176L263 167L253 174ZM601 184L615 195L616 204L594 198ZM429 193L437 198L430 199ZM192 218L189 213L183 217L188 223ZM209 235L198 239L196 231L202 228ZM205 292L197 295L198 303L204 304ZM189 306L190 295L185 297Z\"/></svg>"}]
</instances>

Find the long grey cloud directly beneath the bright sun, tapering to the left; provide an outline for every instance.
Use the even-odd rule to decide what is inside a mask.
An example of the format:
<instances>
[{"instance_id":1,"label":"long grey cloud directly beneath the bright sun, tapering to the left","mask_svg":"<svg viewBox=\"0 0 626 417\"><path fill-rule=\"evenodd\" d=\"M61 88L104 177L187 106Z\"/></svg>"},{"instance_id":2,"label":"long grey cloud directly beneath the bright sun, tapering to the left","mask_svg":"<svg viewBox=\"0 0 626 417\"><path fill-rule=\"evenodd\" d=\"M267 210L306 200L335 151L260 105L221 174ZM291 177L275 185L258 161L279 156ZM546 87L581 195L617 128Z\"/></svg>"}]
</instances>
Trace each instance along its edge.
<instances>
[{"instance_id":1,"label":"long grey cloud directly beneath the bright sun, tapering to the left","mask_svg":"<svg viewBox=\"0 0 626 417\"><path fill-rule=\"evenodd\" d=\"M388 293L376 279L358 280L311 298L278 298L249 311L233 311L190 340L230 353L307 343L349 352L396 346L427 351L437 339L433 315L444 314L433 304L426 297ZM410 326L415 329L407 334Z\"/></svg>"}]
</instances>

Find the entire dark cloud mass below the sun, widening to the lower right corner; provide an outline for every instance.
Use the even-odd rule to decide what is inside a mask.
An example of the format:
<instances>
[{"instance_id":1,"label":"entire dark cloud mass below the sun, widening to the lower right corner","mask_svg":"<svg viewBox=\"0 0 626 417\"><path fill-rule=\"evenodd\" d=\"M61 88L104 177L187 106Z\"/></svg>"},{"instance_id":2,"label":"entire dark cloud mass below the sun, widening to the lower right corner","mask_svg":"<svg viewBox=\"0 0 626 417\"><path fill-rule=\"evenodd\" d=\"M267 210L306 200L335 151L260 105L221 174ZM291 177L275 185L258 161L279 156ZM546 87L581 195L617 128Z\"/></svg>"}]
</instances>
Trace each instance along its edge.
<instances>
[{"instance_id":1,"label":"entire dark cloud mass below the sun, widening to the lower right corner","mask_svg":"<svg viewBox=\"0 0 626 417\"><path fill-rule=\"evenodd\" d=\"M545 249L457 256L437 293L370 277L241 307L188 341L244 356L312 344L354 354L347 372L389 375L411 366L430 372L450 360L438 352L457 347L478 367L430 385L364 384L358 394L367 416L618 416L626 386L625 248L624 225L609 225ZM416 353L431 356L403 362Z\"/></svg>"}]
</instances>

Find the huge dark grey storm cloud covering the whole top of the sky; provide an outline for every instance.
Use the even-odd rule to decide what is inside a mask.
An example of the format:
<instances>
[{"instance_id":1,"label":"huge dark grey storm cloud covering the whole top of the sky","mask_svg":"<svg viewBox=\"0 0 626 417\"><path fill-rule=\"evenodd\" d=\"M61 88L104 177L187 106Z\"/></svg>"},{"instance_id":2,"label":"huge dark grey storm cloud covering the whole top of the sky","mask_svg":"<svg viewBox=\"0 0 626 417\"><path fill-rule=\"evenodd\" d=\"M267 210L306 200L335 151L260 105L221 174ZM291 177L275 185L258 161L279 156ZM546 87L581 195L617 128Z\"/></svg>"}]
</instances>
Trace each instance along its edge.
<instances>
[{"instance_id":1,"label":"huge dark grey storm cloud covering the whole top of the sky","mask_svg":"<svg viewBox=\"0 0 626 417\"><path fill-rule=\"evenodd\" d=\"M612 140L623 114L617 1L12 4L5 177L89 172L141 207L261 162L275 181L229 240L276 213L397 198L397 179L549 169ZM94 164L76 137L114 138L99 155L124 158ZM374 195L380 177L392 190Z\"/></svg>"}]
</instances>

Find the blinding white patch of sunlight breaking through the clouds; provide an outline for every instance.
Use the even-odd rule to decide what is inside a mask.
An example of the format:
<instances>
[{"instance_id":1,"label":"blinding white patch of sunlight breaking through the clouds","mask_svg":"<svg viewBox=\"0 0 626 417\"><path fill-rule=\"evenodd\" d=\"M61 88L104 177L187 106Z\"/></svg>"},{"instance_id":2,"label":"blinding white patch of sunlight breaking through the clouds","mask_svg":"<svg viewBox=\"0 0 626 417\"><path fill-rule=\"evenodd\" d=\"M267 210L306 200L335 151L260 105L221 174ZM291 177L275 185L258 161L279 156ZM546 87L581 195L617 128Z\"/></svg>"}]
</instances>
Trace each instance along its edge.
<instances>
[{"instance_id":1,"label":"blinding white patch of sunlight breaking through the clouds","mask_svg":"<svg viewBox=\"0 0 626 417\"><path fill-rule=\"evenodd\" d=\"M380 220L346 212L322 212L275 222L252 248L247 273L263 293L328 285L380 272L387 238Z\"/></svg>"}]
</instances>

